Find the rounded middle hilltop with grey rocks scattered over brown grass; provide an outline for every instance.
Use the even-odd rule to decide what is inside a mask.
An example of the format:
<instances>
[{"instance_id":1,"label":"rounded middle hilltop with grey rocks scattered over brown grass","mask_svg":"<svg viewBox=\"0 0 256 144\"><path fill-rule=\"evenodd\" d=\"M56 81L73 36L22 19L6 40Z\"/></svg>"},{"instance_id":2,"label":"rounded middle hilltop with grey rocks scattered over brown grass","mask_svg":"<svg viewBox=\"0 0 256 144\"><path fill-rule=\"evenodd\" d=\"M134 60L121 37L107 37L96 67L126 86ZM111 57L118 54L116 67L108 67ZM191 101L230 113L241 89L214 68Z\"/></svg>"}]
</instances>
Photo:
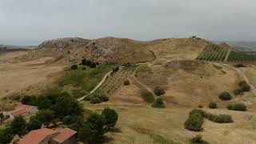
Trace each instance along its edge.
<instances>
[{"instance_id":1,"label":"rounded middle hilltop with grey rocks scattered over brown grass","mask_svg":"<svg viewBox=\"0 0 256 144\"><path fill-rule=\"evenodd\" d=\"M127 38L98 38L86 45L86 51L98 62L148 62L154 56L147 44Z\"/></svg>"}]
</instances>

